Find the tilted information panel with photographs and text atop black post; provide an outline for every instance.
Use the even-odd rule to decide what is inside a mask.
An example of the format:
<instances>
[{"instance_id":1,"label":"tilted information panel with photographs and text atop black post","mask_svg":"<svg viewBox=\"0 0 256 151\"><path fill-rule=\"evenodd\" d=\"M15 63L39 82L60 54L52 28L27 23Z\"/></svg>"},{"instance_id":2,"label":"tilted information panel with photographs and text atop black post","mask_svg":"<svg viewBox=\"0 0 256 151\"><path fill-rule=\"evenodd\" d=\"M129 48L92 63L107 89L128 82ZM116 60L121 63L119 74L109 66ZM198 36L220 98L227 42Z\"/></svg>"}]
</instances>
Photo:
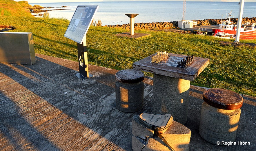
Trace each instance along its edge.
<instances>
[{"instance_id":1,"label":"tilted information panel with photographs and text atop black post","mask_svg":"<svg viewBox=\"0 0 256 151\"><path fill-rule=\"evenodd\" d=\"M77 6L64 37L82 44L99 6Z\"/></svg>"}]
</instances>

